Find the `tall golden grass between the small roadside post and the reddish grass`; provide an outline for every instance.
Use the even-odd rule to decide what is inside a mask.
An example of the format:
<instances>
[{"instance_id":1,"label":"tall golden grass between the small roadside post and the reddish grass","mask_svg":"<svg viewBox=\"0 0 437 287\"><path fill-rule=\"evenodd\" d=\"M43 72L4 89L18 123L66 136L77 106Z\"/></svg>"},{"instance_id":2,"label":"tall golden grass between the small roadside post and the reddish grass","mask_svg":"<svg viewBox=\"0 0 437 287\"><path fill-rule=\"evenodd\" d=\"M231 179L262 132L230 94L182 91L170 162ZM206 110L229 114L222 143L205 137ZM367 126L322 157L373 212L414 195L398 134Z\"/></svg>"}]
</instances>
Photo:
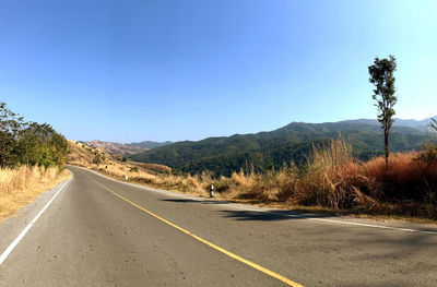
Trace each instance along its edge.
<instances>
[{"instance_id":1,"label":"tall golden grass between the small roadside post and the reddish grass","mask_svg":"<svg viewBox=\"0 0 437 287\"><path fill-rule=\"evenodd\" d=\"M351 144L341 137L328 146L314 146L304 168L292 164L264 175L240 171L227 182L229 194L239 199L330 208L351 208L373 202L361 191L363 187L368 188L370 181L362 175L359 163L354 162Z\"/></svg>"}]
</instances>

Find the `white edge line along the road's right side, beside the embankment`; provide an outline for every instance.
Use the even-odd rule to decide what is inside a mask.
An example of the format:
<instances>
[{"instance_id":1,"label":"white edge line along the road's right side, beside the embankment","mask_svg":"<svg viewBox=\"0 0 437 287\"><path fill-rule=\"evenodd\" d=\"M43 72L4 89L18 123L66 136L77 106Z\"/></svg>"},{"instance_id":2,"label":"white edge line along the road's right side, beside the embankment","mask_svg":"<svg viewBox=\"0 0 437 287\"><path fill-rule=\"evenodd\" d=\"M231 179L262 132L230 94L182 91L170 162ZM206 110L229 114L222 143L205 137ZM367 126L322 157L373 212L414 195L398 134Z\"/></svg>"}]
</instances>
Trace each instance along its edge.
<instances>
[{"instance_id":1,"label":"white edge line along the road's right side, beside the embankment","mask_svg":"<svg viewBox=\"0 0 437 287\"><path fill-rule=\"evenodd\" d=\"M131 182L125 182L125 181L120 181L120 180L107 177L105 175L102 175L101 172L97 172L97 171L95 171L93 169L79 167L79 166L73 166L73 165L70 165L70 166L76 167L76 168L80 168L80 169L83 169L83 170L86 170L86 171L90 171L90 172L93 172L93 174L95 174L97 176L101 176L101 177L103 177L105 179L108 179L108 180L111 180L111 181L116 181L118 183L123 183L123 184L127 184L127 186L144 189L146 191L152 191L152 192L156 192L156 193L164 193L164 194L167 194L167 195L174 195L174 196L185 198L185 199L196 199L196 200L199 200L199 201L211 201L211 200L214 201L213 199L205 199L205 198L200 198L200 196L194 196L194 195L180 194L180 193L173 192L173 191L160 190L160 189L154 189L154 188L149 188L149 187L144 187L144 186L134 184L134 183L131 183ZM305 214L304 215L282 214L282 213L275 212L275 211L264 210L264 208L258 207L258 206L249 207L249 206L244 206L244 205L237 205L237 204L234 204L234 203L228 203L226 206L232 206L232 207L235 207L235 208L246 210L246 211L271 213L271 214L281 215L281 216L284 216L284 217L302 218L302 219L306 219L306 220L324 222L324 223L342 224L342 225L352 225L352 226L361 226L361 227L369 227L369 228L380 228L380 229L397 230L397 231L408 231L408 232L414 232L414 234L437 235L437 231L432 231L432 230L420 230L420 229L411 229L411 228L402 228L402 227L392 227L392 226L383 226L383 225L362 224L362 223L353 223L353 222L346 222L346 220L335 220L335 219L328 219L328 218L309 217L309 216L305 216Z\"/></svg>"}]
</instances>

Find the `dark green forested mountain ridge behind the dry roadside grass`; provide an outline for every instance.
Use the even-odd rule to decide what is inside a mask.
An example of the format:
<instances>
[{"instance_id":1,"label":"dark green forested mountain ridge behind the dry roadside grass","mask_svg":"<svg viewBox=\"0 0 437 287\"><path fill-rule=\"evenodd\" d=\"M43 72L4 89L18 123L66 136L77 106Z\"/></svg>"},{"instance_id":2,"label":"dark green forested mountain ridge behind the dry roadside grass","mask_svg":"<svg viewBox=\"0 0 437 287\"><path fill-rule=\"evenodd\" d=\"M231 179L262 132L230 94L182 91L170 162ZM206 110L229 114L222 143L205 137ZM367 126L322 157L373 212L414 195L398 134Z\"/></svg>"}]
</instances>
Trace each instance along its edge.
<instances>
[{"instance_id":1,"label":"dark green forested mountain ridge behind the dry roadside grass","mask_svg":"<svg viewBox=\"0 0 437 287\"><path fill-rule=\"evenodd\" d=\"M425 121L398 120L391 130L390 150L405 152L418 148L427 139L422 124L426 127ZM228 176L248 165L262 170L272 164L280 168L291 160L300 164L312 145L323 145L340 133L352 143L357 158L368 159L383 153L383 134L379 123L364 119L326 123L292 122L271 132L177 142L131 155L130 158L192 174L208 169L216 176Z\"/></svg>"}]
</instances>

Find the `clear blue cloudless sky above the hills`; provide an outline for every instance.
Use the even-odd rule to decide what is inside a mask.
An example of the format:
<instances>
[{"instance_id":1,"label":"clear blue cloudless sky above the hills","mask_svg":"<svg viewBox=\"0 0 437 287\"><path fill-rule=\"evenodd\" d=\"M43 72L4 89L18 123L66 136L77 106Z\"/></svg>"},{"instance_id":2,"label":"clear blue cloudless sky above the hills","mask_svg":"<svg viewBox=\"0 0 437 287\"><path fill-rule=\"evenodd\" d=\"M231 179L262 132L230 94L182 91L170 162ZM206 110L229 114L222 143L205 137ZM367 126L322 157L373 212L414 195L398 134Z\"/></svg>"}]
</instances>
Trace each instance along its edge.
<instances>
[{"instance_id":1,"label":"clear blue cloudless sky above the hills","mask_svg":"<svg viewBox=\"0 0 437 287\"><path fill-rule=\"evenodd\" d=\"M1 1L0 101L73 140L200 140L437 113L437 1Z\"/></svg>"}]
</instances>

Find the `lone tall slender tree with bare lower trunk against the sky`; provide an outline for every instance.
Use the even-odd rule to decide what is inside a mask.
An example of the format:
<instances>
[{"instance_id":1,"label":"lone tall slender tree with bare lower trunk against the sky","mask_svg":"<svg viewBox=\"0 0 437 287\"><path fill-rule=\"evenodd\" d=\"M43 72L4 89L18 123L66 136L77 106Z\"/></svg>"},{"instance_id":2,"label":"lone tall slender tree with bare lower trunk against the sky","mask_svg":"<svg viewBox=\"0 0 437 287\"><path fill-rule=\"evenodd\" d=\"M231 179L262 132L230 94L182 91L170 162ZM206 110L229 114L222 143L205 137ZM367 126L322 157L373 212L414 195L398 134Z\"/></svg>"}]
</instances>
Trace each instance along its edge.
<instances>
[{"instance_id":1,"label":"lone tall slender tree with bare lower trunk against the sky","mask_svg":"<svg viewBox=\"0 0 437 287\"><path fill-rule=\"evenodd\" d=\"M383 129L383 143L386 150L386 166L389 165L389 134L393 124L393 116L395 113L393 106L397 104L398 98L394 96L395 77L393 72L397 70L397 60L394 56L389 59L375 58L373 65L368 68L370 77L369 82L375 85L374 95L371 97L377 101L375 106L378 107L378 121Z\"/></svg>"}]
</instances>

